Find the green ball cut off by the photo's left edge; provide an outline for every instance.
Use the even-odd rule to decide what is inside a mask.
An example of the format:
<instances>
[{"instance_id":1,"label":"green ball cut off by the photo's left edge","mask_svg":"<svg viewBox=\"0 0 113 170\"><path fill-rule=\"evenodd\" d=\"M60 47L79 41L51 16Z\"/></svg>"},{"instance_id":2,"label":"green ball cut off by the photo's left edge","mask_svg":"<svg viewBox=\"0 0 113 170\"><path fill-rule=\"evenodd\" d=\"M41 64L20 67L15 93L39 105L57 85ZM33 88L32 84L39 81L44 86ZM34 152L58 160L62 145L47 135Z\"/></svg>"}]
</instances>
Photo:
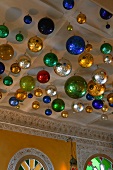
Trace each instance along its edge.
<instances>
[{"instance_id":1,"label":"green ball cut off by the photo's left edge","mask_svg":"<svg viewBox=\"0 0 113 170\"><path fill-rule=\"evenodd\" d=\"M0 38L6 38L9 35L9 29L5 25L0 25Z\"/></svg>"}]
</instances>

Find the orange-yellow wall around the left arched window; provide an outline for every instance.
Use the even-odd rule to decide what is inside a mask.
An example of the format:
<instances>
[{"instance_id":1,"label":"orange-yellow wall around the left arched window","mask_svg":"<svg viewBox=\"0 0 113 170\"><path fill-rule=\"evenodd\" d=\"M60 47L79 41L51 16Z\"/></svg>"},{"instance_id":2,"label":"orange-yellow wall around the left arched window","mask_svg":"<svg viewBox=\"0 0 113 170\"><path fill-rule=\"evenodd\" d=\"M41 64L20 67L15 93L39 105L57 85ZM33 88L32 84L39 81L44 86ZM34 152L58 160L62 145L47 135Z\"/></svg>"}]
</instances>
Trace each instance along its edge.
<instances>
[{"instance_id":1,"label":"orange-yellow wall around the left arched window","mask_svg":"<svg viewBox=\"0 0 113 170\"><path fill-rule=\"evenodd\" d=\"M27 147L45 153L51 160L54 170L70 169L70 142L0 130L0 170L7 170L13 155Z\"/></svg>"}]
</instances>

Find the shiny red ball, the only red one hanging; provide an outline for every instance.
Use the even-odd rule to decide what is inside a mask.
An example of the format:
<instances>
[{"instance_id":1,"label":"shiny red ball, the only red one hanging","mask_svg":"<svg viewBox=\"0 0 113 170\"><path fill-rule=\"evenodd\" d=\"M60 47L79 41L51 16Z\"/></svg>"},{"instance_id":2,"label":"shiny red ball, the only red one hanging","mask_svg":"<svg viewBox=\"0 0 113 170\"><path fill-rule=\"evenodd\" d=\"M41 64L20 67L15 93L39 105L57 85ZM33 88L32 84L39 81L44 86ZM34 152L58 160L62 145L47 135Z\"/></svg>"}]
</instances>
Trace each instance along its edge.
<instances>
[{"instance_id":1,"label":"shiny red ball, the only red one hanging","mask_svg":"<svg viewBox=\"0 0 113 170\"><path fill-rule=\"evenodd\" d=\"M37 74L37 80L40 83L47 83L50 79L50 74L46 70L41 70Z\"/></svg>"}]
</instances>

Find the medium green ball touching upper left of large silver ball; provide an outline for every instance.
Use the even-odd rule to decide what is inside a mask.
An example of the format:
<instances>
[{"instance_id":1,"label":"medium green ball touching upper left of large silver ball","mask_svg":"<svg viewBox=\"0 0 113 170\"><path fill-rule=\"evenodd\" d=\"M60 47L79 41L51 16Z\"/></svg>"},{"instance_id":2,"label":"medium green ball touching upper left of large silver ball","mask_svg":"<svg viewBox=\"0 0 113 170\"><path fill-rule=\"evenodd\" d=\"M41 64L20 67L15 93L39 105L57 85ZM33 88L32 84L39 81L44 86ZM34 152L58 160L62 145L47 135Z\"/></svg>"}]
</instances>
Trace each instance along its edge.
<instances>
[{"instance_id":1,"label":"medium green ball touching upper left of large silver ball","mask_svg":"<svg viewBox=\"0 0 113 170\"><path fill-rule=\"evenodd\" d=\"M54 53L47 53L43 58L44 64L48 67L53 67L57 64L58 58Z\"/></svg>"}]
</instances>

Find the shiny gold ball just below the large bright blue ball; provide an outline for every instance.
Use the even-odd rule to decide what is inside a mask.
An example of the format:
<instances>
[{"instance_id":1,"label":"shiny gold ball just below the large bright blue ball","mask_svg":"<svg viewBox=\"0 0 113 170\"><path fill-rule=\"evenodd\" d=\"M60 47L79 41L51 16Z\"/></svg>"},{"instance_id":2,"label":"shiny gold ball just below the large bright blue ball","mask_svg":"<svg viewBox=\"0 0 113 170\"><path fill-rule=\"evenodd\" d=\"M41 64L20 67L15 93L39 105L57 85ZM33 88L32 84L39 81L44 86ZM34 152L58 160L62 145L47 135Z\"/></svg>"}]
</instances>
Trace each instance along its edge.
<instances>
[{"instance_id":1,"label":"shiny gold ball just below the large bright blue ball","mask_svg":"<svg viewBox=\"0 0 113 170\"><path fill-rule=\"evenodd\" d=\"M92 64L94 63L93 56L90 53L84 52L81 55L79 55L78 63L83 68L91 67Z\"/></svg>"}]
</instances>

